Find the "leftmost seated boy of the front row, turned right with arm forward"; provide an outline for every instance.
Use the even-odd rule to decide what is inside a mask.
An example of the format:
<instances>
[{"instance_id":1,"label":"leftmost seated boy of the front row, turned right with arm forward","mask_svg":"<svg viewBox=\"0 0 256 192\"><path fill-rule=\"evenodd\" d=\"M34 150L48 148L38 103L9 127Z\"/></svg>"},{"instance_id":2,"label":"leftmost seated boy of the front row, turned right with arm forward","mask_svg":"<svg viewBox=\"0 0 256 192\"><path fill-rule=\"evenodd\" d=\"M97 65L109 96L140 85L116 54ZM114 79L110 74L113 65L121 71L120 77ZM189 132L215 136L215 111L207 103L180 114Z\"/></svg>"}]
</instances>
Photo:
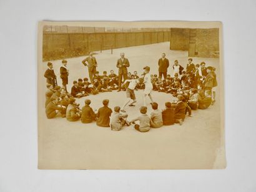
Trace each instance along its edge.
<instances>
[{"instance_id":1,"label":"leftmost seated boy of the front row, turned right with arm forward","mask_svg":"<svg viewBox=\"0 0 256 192\"><path fill-rule=\"evenodd\" d=\"M54 118L56 117L58 112L62 112L66 108L64 106L59 105L59 97L52 95L51 102L46 106L46 117Z\"/></svg>"}]
</instances>

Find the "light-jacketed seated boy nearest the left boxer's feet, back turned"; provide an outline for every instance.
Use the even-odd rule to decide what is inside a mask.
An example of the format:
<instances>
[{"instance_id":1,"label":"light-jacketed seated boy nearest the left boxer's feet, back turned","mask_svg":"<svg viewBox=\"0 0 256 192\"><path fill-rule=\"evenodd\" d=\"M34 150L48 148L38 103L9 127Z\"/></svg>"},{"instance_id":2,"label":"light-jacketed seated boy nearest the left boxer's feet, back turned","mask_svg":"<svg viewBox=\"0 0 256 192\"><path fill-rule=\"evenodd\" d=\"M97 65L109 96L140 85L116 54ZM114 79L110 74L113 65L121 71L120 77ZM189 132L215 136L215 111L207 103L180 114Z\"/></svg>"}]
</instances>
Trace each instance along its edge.
<instances>
[{"instance_id":1,"label":"light-jacketed seated boy nearest the left boxer's feet, back turned","mask_svg":"<svg viewBox=\"0 0 256 192\"><path fill-rule=\"evenodd\" d=\"M111 115L111 130L113 131L120 131L124 125L129 124L126 122L128 115L126 113L120 113L120 107L114 107L114 113Z\"/></svg>"}]
</instances>

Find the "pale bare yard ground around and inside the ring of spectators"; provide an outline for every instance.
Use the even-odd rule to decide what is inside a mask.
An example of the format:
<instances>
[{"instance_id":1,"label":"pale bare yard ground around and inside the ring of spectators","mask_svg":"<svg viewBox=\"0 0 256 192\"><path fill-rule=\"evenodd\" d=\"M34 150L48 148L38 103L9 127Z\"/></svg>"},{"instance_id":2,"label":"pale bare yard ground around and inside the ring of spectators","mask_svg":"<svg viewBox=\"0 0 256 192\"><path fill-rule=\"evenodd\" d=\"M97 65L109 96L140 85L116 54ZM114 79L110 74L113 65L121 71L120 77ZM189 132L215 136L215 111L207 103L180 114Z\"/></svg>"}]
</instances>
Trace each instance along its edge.
<instances>
[{"instance_id":1,"label":"pale bare yard ground around and inside the ring of spectators","mask_svg":"<svg viewBox=\"0 0 256 192\"><path fill-rule=\"evenodd\" d=\"M185 67L187 52L169 50L169 42L147 46L126 47L96 54L98 70L116 69L116 60L120 52L125 52L130 61L130 71L137 70L140 74L144 65L149 65L152 73L157 73L157 60L162 52L174 64L174 60ZM81 64L84 57L67 59L70 70L69 87L78 78L87 77L87 68ZM217 68L219 79L219 59L193 58L194 64L205 61L207 65ZM54 70L58 74L61 60L52 61ZM46 64L46 63L44 63ZM46 67L44 67L44 70ZM172 70L169 70L172 74ZM61 80L58 79L59 84ZM44 85L42 85L44 86ZM135 92L137 106L127 108L129 119L139 115L142 103L141 91ZM153 97L164 108L164 103L174 98L170 94L154 92ZM102 99L109 98L110 107L121 106L126 98L125 92L107 92L77 100L84 105L84 100L92 100L92 108L101 107ZM220 98L207 110L192 112L193 117L186 117L184 125L171 125L158 129L151 129L147 133L139 133L131 126L121 132L112 132L109 128L100 128L96 123L82 124L81 122L67 122L57 117L47 120L44 115L44 97L39 99L39 168L67 168L67 169L185 169L185 168L217 168L220 148ZM149 103L149 101L148 101ZM148 105L150 108L150 105ZM151 109L148 114L150 114ZM114 164L114 165L113 165ZM70 166L67 166L70 165ZM72 165L72 166L71 166Z\"/></svg>"}]
</instances>

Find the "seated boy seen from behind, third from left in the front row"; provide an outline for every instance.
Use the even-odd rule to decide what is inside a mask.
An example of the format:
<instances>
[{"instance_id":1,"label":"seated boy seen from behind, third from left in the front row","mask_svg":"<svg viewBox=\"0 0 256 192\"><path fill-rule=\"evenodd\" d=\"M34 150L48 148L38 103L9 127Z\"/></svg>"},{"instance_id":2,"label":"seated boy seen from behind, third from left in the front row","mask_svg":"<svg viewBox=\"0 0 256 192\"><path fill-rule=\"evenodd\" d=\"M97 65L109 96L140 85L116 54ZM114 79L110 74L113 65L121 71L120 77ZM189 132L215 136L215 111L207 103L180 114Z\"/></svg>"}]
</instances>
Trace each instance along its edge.
<instances>
[{"instance_id":1,"label":"seated boy seen from behind, third from left in the front row","mask_svg":"<svg viewBox=\"0 0 256 192\"><path fill-rule=\"evenodd\" d=\"M82 113L81 113L81 122L82 123L91 123L96 120L96 114L94 113L94 110L90 107L91 100L86 99L85 105L82 107Z\"/></svg>"}]
</instances>

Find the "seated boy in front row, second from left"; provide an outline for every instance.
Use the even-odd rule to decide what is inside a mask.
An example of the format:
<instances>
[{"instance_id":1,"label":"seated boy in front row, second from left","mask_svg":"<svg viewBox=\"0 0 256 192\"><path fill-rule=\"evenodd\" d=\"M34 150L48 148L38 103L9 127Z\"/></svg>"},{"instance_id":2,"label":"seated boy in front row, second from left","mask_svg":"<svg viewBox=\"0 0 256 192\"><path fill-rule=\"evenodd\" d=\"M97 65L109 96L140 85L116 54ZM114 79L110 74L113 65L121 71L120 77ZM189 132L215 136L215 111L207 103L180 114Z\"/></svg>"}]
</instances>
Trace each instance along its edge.
<instances>
[{"instance_id":1,"label":"seated boy in front row, second from left","mask_svg":"<svg viewBox=\"0 0 256 192\"><path fill-rule=\"evenodd\" d=\"M75 101L75 98L69 99L69 105L66 111L66 118L69 122L76 122L81 117L81 111Z\"/></svg>"}]
</instances>

